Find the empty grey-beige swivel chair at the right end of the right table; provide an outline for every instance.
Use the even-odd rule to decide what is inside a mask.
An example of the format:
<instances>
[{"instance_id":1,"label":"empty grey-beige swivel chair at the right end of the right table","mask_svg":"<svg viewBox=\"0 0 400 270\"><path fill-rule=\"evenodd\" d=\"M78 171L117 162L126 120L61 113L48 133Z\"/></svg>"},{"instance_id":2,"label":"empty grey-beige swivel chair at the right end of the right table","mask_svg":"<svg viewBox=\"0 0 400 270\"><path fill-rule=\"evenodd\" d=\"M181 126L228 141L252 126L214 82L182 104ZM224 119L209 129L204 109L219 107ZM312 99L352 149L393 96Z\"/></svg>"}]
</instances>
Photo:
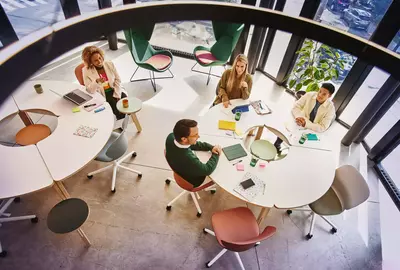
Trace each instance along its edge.
<instances>
[{"instance_id":1,"label":"empty grey-beige swivel chair at the right end of the right table","mask_svg":"<svg viewBox=\"0 0 400 270\"><path fill-rule=\"evenodd\" d=\"M293 211L312 212L311 227L306 239L313 237L315 217L320 216L332 226L331 233L337 232L336 226L325 216L339 215L345 210L352 209L369 197L368 184L356 168L344 165L336 169L335 179L329 190L318 200L309 204L311 209L294 209ZM290 215L292 210L287 210Z\"/></svg>"}]
</instances>

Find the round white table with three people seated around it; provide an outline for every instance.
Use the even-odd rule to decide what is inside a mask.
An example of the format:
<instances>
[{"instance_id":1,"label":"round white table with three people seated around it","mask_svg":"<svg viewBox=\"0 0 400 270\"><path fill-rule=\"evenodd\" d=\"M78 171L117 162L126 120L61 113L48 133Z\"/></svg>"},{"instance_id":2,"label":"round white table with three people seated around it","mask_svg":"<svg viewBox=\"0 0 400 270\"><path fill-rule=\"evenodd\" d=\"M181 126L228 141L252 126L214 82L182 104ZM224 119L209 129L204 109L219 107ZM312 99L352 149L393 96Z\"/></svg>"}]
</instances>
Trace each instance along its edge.
<instances>
[{"instance_id":1,"label":"round white table with three people seated around it","mask_svg":"<svg viewBox=\"0 0 400 270\"><path fill-rule=\"evenodd\" d=\"M231 102L234 106L248 103L243 100ZM218 130L218 120L231 120L230 118L234 117L233 114L225 114L223 111L222 105L218 104L200 119L201 138L199 140L213 145L219 144L222 147L240 143L248 155L230 162L224 154L221 154L218 166L210 178L235 197L263 207L258 218L259 223L272 207L295 208L307 205L319 199L330 188L336 169L332 151L293 144L285 158L270 163L265 162L264 168L259 166L259 163L263 162L259 160L255 167L251 167L251 154L243 141L226 135L226 131ZM243 131L257 125L262 125L261 129L264 129L264 125L268 125L291 138L293 133L285 128L284 119L279 114L274 115L274 112L269 115L257 115L250 106L250 111L242 115L237 125ZM198 152L197 155L205 161L210 153ZM238 160L243 161L244 171L237 171L236 166L233 165ZM234 190L239 182L244 180L243 177L247 172L257 176L266 184L264 194L258 194L252 201L248 201Z\"/></svg>"}]
</instances>

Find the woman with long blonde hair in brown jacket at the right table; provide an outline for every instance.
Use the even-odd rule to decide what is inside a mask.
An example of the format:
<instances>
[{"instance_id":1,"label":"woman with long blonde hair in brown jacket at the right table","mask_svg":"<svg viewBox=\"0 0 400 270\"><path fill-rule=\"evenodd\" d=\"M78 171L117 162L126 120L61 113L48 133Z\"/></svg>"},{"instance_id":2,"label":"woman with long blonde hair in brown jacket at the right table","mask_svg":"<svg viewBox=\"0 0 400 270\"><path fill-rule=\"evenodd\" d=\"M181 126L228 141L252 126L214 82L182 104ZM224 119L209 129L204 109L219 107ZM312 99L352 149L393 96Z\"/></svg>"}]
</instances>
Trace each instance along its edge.
<instances>
[{"instance_id":1,"label":"woman with long blonde hair in brown jacket at the right table","mask_svg":"<svg viewBox=\"0 0 400 270\"><path fill-rule=\"evenodd\" d=\"M217 86L217 98L214 105L223 103L227 108L231 99L248 99L253 86L253 79L247 71L248 60L244 54L239 54L233 68L225 70Z\"/></svg>"}]
</instances>

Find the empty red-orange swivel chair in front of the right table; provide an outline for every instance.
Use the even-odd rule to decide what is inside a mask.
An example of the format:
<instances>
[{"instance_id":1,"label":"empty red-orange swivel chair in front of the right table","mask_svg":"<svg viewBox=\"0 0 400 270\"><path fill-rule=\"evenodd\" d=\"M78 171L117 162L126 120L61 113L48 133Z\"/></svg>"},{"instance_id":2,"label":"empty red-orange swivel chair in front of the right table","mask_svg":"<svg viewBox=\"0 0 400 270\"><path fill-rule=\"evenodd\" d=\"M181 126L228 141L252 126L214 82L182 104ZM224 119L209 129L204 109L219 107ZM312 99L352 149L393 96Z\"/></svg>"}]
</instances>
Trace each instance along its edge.
<instances>
[{"instance_id":1,"label":"empty red-orange swivel chair in front of the right table","mask_svg":"<svg viewBox=\"0 0 400 270\"><path fill-rule=\"evenodd\" d=\"M214 235L220 246L224 249L214 259L206 263L207 268L210 268L226 251L230 250L235 253L241 269L244 270L238 252L251 249L258 242L271 237L276 232L275 227L267 226L260 234L256 218L250 209L246 207L237 207L217 212L213 214L211 222L214 232L206 228L203 231Z\"/></svg>"}]
</instances>

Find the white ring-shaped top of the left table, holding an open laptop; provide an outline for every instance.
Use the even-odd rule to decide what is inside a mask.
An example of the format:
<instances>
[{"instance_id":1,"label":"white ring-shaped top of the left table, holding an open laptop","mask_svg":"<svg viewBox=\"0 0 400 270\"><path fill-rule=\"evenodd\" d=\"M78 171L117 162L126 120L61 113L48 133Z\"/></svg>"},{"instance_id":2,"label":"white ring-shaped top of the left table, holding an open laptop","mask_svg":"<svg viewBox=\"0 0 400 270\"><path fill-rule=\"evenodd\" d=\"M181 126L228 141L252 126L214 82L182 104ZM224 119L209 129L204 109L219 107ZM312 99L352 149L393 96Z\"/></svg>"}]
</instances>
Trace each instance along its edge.
<instances>
[{"instance_id":1,"label":"white ring-shaped top of the left table, holding an open laptop","mask_svg":"<svg viewBox=\"0 0 400 270\"><path fill-rule=\"evenodd\" d=\"M42 85L42 94L33 88L38 83ZM1 159L0 168L2 175L8 176L0 179L0 198L33 192L51 185L53 180L71 176L93 160L107 143L114 126L110 105L104 103L105 110L99 113L87 112L81 105L80 112L73 113L72 108L77 106L62 96L74 89L84 90L68 82L27 81L13 93L20 110L51 111L58 116L58 123L55 131L37 145L0 147L0 156L7 157ZM93 96L104 100L99 93ZM4 115L16 109L9 101L5 104L0 109L6 112ZM74 135L80 125L98 130L92 138Z\"/></svg>"}]
</instances>

